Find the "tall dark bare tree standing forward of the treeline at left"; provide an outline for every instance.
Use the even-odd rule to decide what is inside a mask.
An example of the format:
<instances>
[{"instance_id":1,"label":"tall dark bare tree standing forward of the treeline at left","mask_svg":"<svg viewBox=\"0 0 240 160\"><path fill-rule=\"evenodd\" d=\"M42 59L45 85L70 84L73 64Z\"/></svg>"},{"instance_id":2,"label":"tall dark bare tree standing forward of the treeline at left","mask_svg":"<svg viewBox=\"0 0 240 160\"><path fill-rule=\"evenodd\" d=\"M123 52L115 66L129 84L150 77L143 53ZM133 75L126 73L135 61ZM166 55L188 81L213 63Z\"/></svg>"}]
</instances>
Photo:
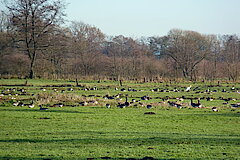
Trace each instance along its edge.
<instances>
[{"instance_id":1,"label":"tall dark bare tree standing forward of the treeline at left","mask_svg":"<svg viewBox=\"0 0 240 160\"><path fill-rule=\"evenodd\" d=\"M6 7L18 47L31 61L29 78L34 78L37 53L48 47L45 35L62 22L64 4L60 0L11 0Z\"/></svg>"}]
</instances>

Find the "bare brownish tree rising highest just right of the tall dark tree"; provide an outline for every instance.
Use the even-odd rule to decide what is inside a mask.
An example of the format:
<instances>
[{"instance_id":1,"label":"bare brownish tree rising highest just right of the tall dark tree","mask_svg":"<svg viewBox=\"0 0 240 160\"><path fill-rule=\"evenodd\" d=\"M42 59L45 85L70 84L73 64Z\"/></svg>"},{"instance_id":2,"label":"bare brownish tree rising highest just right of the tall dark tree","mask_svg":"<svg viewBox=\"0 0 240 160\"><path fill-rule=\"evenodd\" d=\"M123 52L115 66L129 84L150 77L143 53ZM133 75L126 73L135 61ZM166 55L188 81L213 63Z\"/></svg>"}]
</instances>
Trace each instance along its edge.
<instances>
[{"instance_id":1,"label":"bare brownish tree rising highest just right of the tall dark tree","mask_svg":"<svg viewBox=\"0 0 240 160\"><path fill-rule=\"evenodd\" d=\"M100 29L83 22L73 22L70 30L73 40L71 49L75 56L74 72L80 71L87 76L95 70L105 35Z\"/></svg>"}]
</instances>

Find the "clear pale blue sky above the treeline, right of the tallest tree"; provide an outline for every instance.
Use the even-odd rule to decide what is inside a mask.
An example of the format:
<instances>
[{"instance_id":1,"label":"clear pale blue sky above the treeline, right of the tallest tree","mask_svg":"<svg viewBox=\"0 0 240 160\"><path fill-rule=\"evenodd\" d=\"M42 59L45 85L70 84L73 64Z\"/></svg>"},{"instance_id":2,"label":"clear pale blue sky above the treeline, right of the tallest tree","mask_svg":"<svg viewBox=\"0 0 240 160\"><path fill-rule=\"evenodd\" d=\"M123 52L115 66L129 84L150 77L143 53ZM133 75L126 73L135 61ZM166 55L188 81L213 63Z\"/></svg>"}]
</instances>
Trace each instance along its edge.
<instances>
[{"instance_id":1,"label":"clear pale blue sky above the treeline, right of the tallest tree","mask_svg":"<svg viewBox=\"0 0 240 160\"><path fill-rule=\"evenodd\" d=\"M240 0L65 0L68 20L107 35L163 36L178 28L239 34Z\"/></svg>"}]
</instances>

